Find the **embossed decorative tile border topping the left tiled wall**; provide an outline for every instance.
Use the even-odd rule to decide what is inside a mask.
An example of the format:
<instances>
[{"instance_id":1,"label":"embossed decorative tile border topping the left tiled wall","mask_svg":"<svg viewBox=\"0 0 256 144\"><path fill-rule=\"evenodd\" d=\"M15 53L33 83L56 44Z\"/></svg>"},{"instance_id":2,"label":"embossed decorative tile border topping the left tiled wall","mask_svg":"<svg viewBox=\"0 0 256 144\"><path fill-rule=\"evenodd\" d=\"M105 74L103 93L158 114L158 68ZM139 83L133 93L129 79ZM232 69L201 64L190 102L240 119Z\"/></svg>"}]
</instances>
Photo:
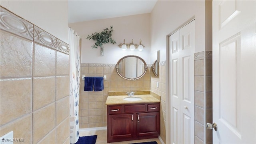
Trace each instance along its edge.
<instances>
[{"instance_id":1,"label":"embossed decorative tile border topping the left tiled wall","mask_svg":"<svg viewBox=\"0 0 256 144\"><path fill-rule=\"evenodd\" d=\"M0 29L69 54L69 45L38 26L0 7Z\"/></svg>"}]
</instances>

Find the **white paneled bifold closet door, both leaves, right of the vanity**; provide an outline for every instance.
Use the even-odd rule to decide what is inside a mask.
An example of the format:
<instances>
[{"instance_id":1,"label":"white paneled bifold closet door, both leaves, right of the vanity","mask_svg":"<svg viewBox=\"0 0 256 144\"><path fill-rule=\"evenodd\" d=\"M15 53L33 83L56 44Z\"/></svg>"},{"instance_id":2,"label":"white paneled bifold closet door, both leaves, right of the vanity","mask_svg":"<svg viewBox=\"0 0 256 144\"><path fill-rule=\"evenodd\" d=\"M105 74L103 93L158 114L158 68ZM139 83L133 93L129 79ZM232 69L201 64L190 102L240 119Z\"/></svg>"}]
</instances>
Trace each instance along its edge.
<instances>
[{"instance_id":1,"label":"white paneled bifold closet door, both leaves, right of the vanity","mask_svg":"<svg viewBox=\"0 0 256 144\"><path fill-rule=\"evenodd\" d=\"M194 143L195 20L169 37L171 142Z\"/></svg>"}]
</instances>

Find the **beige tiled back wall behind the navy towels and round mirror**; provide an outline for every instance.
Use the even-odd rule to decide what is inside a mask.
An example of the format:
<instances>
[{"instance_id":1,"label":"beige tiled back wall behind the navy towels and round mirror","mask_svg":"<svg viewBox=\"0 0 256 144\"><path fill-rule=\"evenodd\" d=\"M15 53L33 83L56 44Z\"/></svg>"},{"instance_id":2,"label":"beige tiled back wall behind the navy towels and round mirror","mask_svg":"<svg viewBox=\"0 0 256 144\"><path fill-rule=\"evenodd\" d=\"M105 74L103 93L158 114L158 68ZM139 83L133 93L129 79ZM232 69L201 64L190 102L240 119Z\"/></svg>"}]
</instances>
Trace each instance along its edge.
<instances>
[{"instance_id":1,"label":"beige tiled back wall behind the navy towels and round mirror","mask_svg":"<svg viewBox=\"0 0 256 144\"><path fill-rule=\"evenodd\" d=\"M79 127L93 128L107 126L107 106L105 104L109 91L150 90L150 68L138 80L125 80L120 77L116 64L81 64ZM84 76L104 76L104 90L99 92L84 91Z\"/></svg>"}]
</instances>

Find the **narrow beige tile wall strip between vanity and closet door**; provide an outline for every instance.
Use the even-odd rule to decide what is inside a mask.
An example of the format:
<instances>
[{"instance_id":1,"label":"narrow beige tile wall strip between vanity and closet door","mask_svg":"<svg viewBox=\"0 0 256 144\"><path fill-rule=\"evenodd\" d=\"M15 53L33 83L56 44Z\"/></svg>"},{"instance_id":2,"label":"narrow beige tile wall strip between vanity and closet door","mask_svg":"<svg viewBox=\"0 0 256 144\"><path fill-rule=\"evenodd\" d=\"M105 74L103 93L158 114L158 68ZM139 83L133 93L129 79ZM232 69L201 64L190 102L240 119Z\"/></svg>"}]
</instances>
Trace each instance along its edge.
<instances>
[{"instance_id":1,"label":"narrow beige tile wall strip between vanity and closet door","mask_svg":"<svg viewBox=\"0 0 256 144\"><path fill-rule=\"evenodd\" d=\"M159 76L151 74L151 91L160 95L160 137L166 142L166 61L159 64ZM156 87L159 82L159 88Z\"/></svg>"}]
</instances>

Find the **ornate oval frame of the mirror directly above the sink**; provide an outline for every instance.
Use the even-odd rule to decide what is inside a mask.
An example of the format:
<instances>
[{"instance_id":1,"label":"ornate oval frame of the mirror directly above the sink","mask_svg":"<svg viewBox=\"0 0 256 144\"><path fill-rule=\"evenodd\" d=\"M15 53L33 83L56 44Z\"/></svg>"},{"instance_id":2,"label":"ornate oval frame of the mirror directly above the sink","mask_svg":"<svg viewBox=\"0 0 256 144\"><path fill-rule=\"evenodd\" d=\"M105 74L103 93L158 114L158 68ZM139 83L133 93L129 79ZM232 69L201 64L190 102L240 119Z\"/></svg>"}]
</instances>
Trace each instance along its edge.
<instances>
[{"instance_id":1,"label":"ornate oval frame of the mirror directly above the sink","mask_svg":"<svg viewBox=\"0 0 256 144\"><path fill-rule=\"evenodd\" d=\"M144 63L144 72L143 72L142 75L140 75L140 76L138 76L138 77L136 77L136 78L126 78L125 76L122 76L122 75L118 72L118 65L119 65L119 63L120 63L124 58L128 58L128 57L135 57L135 58L138 58L138 59L140 59L140 60ZM126 79L126 80L138 80L138 79L142 78L142 76L144 76L144 75L146 74L147 69L148 69L148 66L147 66L145 60L143 60L143 59L140 58L139 56L134 56L134 55L124 56L124 57L120 58L120 60L118 60L118 62L116 63L116 72L117 72L117 74L118 74L119 76L121 76L122 78Z\"/></svg>"}]
</instances>

